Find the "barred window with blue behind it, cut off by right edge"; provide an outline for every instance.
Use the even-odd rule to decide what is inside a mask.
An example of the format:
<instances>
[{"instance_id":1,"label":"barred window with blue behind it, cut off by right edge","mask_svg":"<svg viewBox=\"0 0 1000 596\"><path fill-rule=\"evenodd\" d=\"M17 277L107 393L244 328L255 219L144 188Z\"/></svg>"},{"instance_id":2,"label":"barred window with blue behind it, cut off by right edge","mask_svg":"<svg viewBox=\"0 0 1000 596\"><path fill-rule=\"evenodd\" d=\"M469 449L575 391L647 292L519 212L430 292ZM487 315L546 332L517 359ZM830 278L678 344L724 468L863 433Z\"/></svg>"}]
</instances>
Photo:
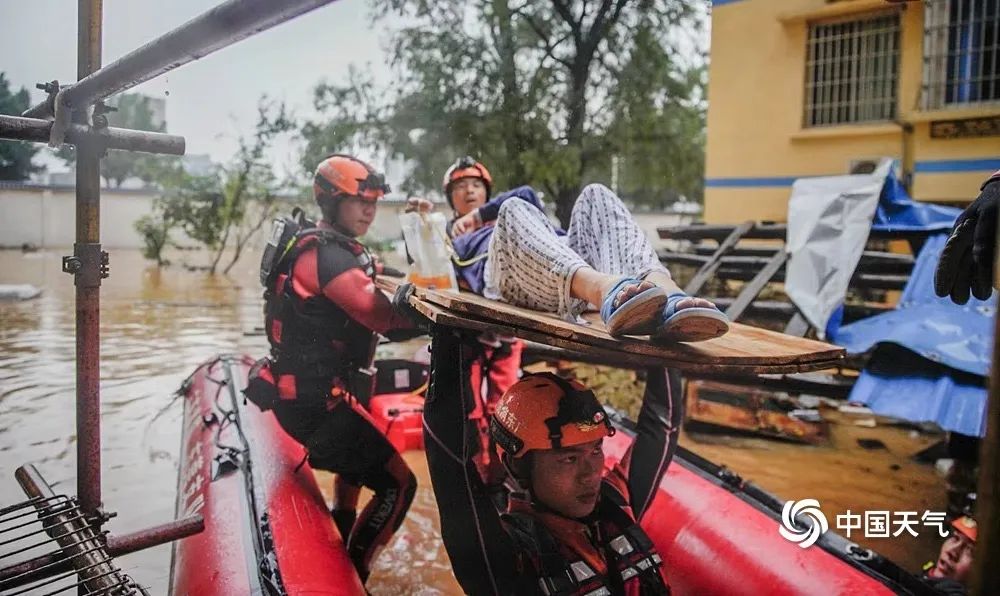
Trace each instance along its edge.
<instances>
[{"instance_id":1,"label":"barred window with blue behind it, cut off by right edge","mask_svg":"<svg viewBox=\"0 0 1000 596\"><path fill-rule=\"evenodd\" d=\"M924 108L987 102L1000 102L1000 0L927 0Z\"/></svg>"}]
</instances>

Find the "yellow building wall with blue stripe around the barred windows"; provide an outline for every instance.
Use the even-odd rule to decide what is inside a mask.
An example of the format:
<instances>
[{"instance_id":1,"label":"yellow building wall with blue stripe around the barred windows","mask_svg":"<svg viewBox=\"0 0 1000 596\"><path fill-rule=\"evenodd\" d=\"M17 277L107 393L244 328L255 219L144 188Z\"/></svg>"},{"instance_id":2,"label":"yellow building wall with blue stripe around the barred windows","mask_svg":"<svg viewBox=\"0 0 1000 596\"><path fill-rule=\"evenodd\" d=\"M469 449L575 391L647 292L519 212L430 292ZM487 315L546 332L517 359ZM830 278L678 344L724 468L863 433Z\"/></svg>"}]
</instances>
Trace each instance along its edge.
<instances>
[{"instance_id":1,"label":"yellow building wall with blue stripe around the barred windows","mask_svg":"<svg viewBox=\"0 0 1000 596\"><path fill-rule=\"evenodd\" d=\"M901 11L898 122L803 127L809 23L894 10ZM923 27L921 2L716 0L705 220L785 221L795 178L846 174L852 161L882 156L913 172L917 199L974 198L1000 167L1000 137L931 139L930 122L1000 115L1000 104L921 111ZM904 133L904 123L912 132Z\"/></svg>"}]
</instances>

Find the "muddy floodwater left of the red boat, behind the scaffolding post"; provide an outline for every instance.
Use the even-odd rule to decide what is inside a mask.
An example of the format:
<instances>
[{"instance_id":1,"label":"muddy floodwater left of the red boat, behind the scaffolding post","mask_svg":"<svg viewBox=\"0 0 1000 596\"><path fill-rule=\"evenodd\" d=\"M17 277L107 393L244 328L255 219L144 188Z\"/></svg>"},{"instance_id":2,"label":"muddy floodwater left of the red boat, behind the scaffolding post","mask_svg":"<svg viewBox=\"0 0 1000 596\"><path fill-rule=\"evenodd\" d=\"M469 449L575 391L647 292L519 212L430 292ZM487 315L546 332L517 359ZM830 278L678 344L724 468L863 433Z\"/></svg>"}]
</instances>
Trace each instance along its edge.
<instances>
[{"instance_id":1,"label":"muddy floodwater left of the red boat, behind the scaffolding post","mask_svg":"<svg viewBox=\"0 0 1000 596\"><path fill-rule=\"evenodd\" d=\"M0 251L0 283L42 289L33 300L0 302L4 504L24 500L14 469L29 462L57 493L76 492L74 287L60 271L69 252ZM112 251L101 288L102 486L105 509L118 513L112 532L173 519L181 402L172 393L216 352L264 350L263 338L244 336L260 318L255 282L249 268L212 279ZM119 562L152 593L167 592L169 545Z\"/></svg>"}]
</instances>

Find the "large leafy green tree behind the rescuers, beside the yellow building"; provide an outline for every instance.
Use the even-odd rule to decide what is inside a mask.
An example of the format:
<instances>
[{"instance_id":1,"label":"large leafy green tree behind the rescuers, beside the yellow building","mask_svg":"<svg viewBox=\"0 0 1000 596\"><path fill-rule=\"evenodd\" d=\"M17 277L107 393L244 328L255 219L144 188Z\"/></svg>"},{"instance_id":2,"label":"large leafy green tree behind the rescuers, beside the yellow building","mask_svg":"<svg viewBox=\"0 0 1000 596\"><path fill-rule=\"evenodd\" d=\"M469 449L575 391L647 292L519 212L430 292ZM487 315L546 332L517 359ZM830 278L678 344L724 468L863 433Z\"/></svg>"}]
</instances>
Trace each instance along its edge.
<instances>
[{"instance_id":1,"label":"large leafy green tree behind the rescuers, beside the yellow building","mask_svg":"<svg viewBox=\"0 0 1000 596\"><path fill-rule=\"evenodd\" d=\"M439 188L441 173L456 156L472 154L489 164L498 188L532 183L554 196L565 225L581 184L606 180L612 155L621 154L626 164L638 163L633 157L688 155L664 152L652 137L636 143L649 131L630 129L656 116L659 142L668 142L674 135L667 130L671 119L700 121L700 79L688 75L701 62L690 42L690 32L697 32L704 18L697 3L373 0L373 5L376 19L399 16L406 23L391 44L399 76L392 90L380 90L360 70L344 83L316 88L321 116L303 129L307 169L324 153L372 147L413 160L416 168L405 190L426 190ZM648 70L655 71L652 78L639 76ZM617 116L623 101L636 117ZM690 127L677 129L681 134ZM691 132L697 146L701 130ZM678 172L690 169L679 163L662 168L672 166ZM639 196L687 192L662 186L674 183L661 176Z\"/></svg>"}]
</instances>

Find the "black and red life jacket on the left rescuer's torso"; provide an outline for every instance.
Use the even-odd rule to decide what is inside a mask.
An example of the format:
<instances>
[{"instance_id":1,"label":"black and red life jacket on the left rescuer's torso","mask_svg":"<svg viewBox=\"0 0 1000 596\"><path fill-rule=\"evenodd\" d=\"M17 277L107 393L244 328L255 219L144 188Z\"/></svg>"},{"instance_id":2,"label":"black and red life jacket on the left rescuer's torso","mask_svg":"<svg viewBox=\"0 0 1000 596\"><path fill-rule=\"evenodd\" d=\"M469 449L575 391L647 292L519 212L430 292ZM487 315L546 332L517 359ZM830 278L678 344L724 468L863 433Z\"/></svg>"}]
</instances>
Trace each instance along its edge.
<instances>
[{"instance_id":1,"label":"black and red life jacket on the left rescuer's torso","mask_svg":"<svg viewBox=\"0 0 1000 596\"><path fill-rule=\"evenodd\" d=\"M350 370L367 367L375 333L354 321L322 293L302 297L292 284L295 262L310 249L317 251L320 287L340 273L358 267L374 279L375 266L364 245L328 228L299 218L285 220L297 227L280 252L271 256L265 268L264 316L271 344L271 369L275 377L294 375L297 380L321 383L344 377ZM288 235L287 230L285 231ZM281 235L280 233L278 234ZM267 261L265 256L264 261Z\"/></svg>"}]
</instances>

